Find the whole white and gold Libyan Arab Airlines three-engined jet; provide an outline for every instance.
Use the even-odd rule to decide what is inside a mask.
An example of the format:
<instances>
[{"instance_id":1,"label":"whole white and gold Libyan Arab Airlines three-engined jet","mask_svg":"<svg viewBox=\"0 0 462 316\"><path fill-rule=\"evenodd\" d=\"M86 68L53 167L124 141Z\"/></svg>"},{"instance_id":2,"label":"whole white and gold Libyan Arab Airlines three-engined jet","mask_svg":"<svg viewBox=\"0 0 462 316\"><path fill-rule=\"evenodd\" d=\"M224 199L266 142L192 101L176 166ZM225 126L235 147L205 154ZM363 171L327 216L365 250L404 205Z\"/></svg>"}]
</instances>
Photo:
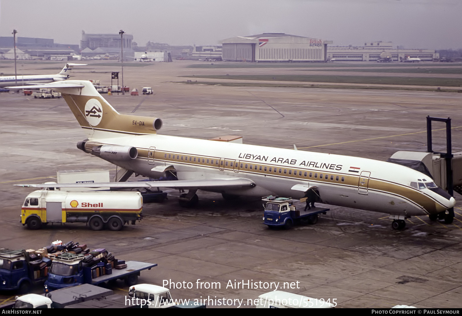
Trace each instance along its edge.
<instances>
[{"instance_id":1,"label":"whole white and gold Libyan Arab Airlines three-engined jet","mask_svg":"<svg viewBox=\"0 0 462 316\"><path fill-rule=\"evenodd\" d=\"M176 180L85 184L22 184L23 187L147 187L187 189L183 206L198 202L198 189L230 195L292 196L300 199L314 188L318 201L390 214L392 227L402 229L411 216L446 216L455 200L427 175L388 162L325 154L199 140L157 134L159 118L120 114L91 82L66 80L47 86L60 91L87 139L77 147L125 172L158 178L172 170Z\"/></svg>"}]
</instances>

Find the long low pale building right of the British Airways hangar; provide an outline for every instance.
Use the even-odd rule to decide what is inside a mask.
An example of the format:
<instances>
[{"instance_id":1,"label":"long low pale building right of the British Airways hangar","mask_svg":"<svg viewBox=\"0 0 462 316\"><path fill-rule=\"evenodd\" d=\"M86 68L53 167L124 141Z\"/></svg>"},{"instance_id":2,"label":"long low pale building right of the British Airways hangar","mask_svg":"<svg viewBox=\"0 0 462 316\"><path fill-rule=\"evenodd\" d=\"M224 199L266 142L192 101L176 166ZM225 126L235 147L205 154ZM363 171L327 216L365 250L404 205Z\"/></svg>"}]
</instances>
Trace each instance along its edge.
<instances>
[{"instance_id":1,"label":"long low pale building right of the British Airways hangar","mask_svg":"<svg viewBox=\"0 0 462 316\"><path fill-rule=\"evenodd\" d=\"M438 59L439 54L434 49L398 49L392 42L369 42L364 46L329 46L327 59L336 61L377 61L382 52L391 55L393 61L406 58L420 58L422 61Z\"/></svg>"}]
</instances>

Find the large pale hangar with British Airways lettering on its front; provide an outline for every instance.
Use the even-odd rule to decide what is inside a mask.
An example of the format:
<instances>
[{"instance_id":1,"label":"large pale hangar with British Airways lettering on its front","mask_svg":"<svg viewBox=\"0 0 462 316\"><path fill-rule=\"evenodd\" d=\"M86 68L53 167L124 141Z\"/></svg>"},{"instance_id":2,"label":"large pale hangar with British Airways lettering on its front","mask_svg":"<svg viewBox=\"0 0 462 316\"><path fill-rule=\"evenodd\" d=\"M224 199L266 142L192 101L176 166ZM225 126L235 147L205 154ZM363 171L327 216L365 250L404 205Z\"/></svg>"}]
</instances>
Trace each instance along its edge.
<instances>
[{"instance_id":1,"label":"large pale hangar with British Airways lettering on its front","mask_svg":"<svg viewBox=\"0 0 462 316\"><path fill-rule=\"evenodd\" d=\"M223 61L243 62L324 62L327 44L319 38L285 33L235 36L220 41Z\"/></svg>"}]
</instances>

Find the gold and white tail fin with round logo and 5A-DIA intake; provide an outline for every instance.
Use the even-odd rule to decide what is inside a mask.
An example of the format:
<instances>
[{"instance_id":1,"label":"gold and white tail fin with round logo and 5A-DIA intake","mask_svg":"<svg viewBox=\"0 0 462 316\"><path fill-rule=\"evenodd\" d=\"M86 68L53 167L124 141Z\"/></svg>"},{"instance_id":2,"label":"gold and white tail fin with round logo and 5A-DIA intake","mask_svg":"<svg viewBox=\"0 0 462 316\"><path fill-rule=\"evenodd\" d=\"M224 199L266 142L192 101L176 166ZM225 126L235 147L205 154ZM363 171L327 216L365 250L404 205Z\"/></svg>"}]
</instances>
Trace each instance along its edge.
<instances>
[{"instance_id":1,"label":"gold and white tail fin with round logo and 5A-DIA intake","mask_svg":"<svg viewBox=\"0 0 462 316\"><path fill-rule=\"evenodd\" d=\"M89 138L155 134L162 128L157 117L120 114L90 81L64 80L48 84L59 91Z\"/></svg>"}]
</instances>

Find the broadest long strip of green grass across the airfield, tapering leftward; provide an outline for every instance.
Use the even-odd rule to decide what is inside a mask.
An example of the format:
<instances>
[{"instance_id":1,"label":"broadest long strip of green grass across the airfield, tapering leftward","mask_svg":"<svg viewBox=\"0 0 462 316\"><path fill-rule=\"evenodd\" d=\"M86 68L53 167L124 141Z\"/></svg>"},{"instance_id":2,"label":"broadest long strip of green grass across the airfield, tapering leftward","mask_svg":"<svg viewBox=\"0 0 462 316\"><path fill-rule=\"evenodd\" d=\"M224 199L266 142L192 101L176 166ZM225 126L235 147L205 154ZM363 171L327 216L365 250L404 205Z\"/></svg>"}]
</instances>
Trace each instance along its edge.
<instances>
[{"instance_id":1,"label":"broadest long strip of green grass across the airfield, tapering leftward","mask_svg":"<svg viewBox=\"0 0 462 316\"><path fill-rule=\"evenodd\" d=\"M462 87L458 78L406 78L406 77L369 77L369 76L328 76L328 75L199 75L183 76L186 78L268 80L298 82L332 82L376 85L436 85Z\"/></svg>"}]
</instances>

